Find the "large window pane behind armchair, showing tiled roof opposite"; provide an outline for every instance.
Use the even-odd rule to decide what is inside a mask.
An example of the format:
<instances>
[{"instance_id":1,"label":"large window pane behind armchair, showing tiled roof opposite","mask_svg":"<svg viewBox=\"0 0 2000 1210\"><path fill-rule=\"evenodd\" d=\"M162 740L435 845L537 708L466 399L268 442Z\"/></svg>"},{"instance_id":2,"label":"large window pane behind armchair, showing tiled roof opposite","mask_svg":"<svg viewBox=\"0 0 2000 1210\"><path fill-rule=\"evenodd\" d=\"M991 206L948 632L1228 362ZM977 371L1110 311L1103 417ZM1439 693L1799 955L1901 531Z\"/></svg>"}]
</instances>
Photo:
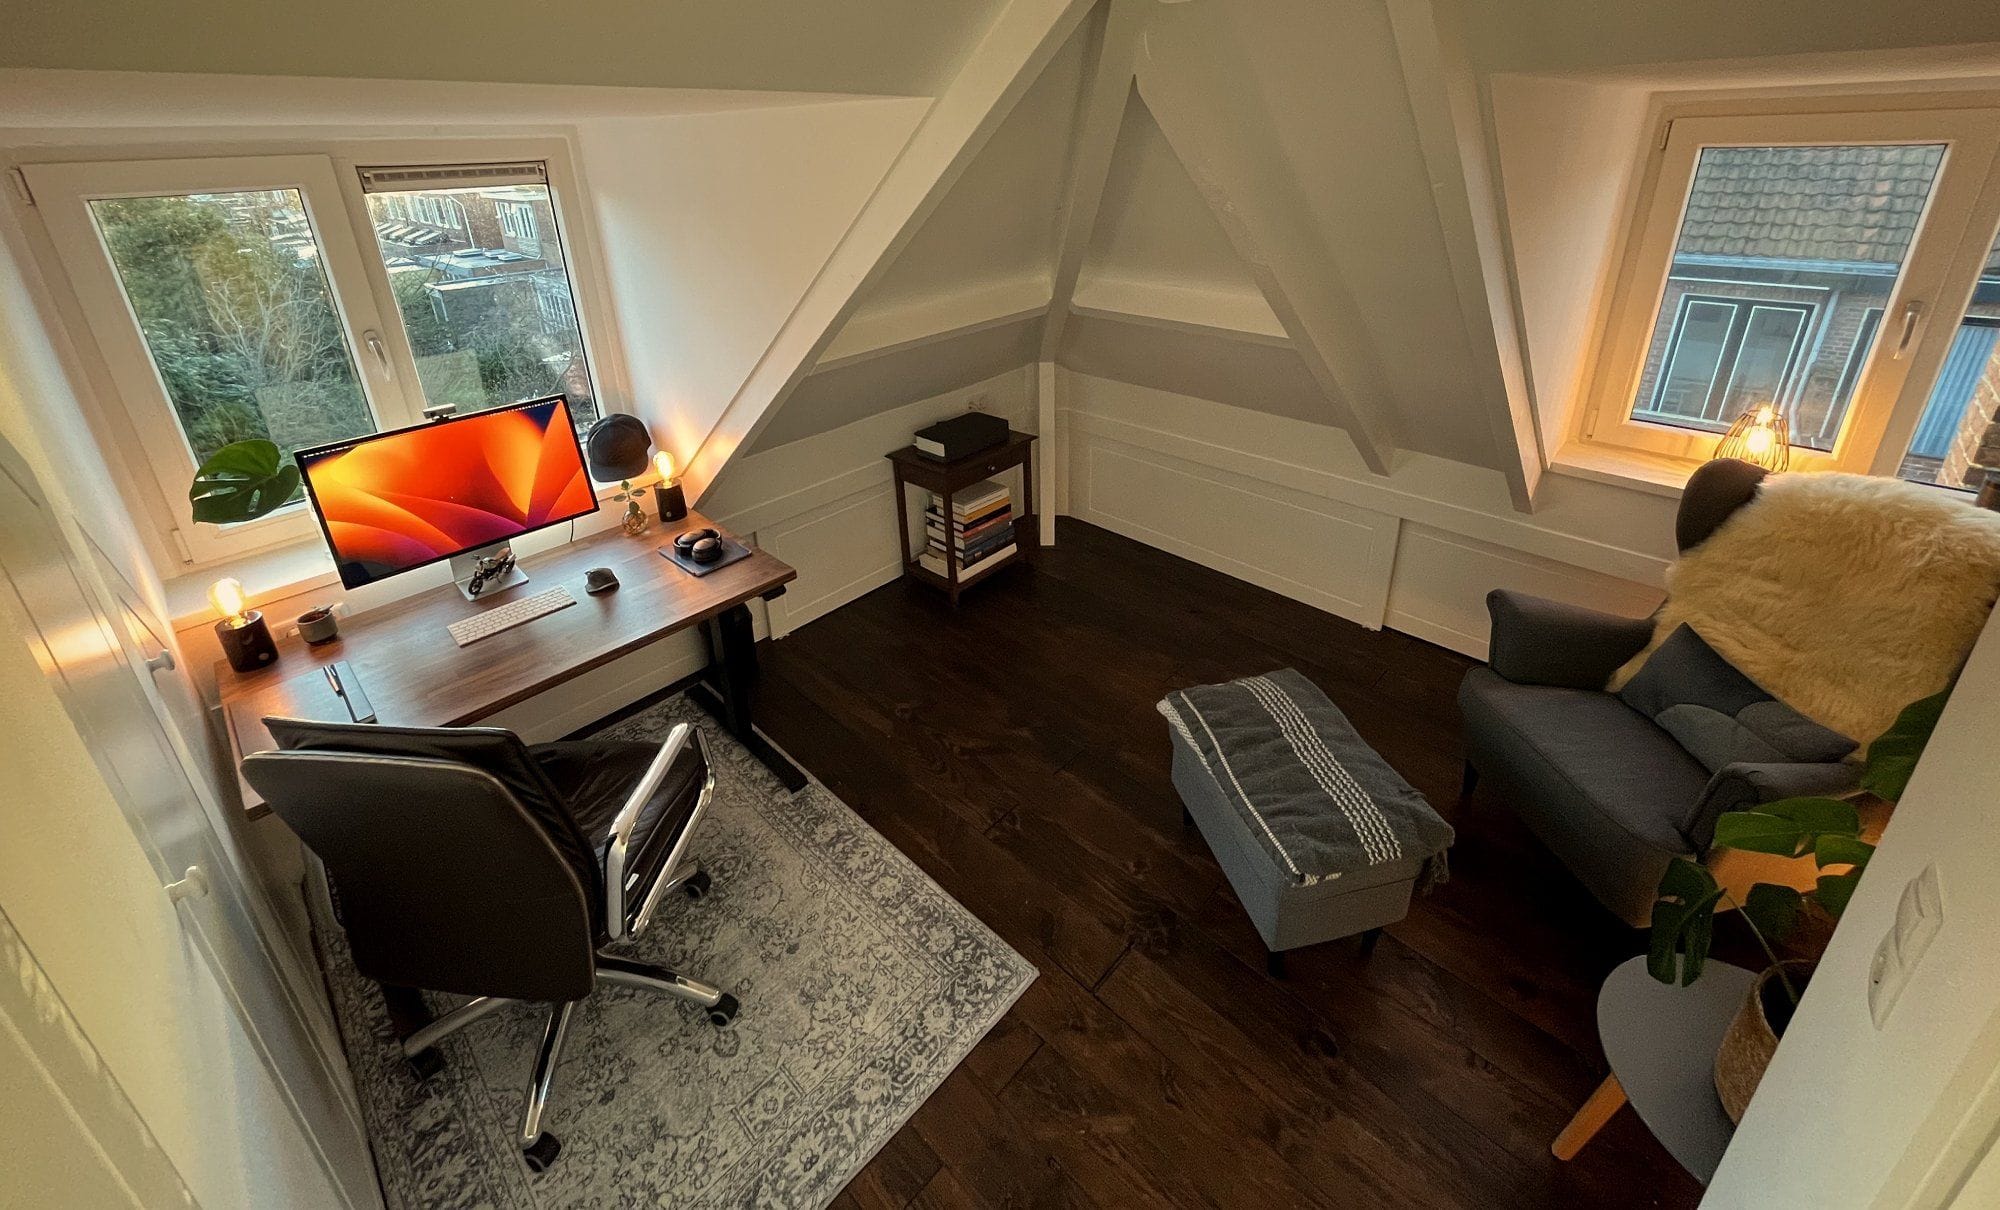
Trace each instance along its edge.
<instances>
[{"instance_id":1,"label":"large window pane behind armchair, showing tiled roof opposite","mask_svg":"<svg viewBox=\"0 0 2000 1210\"><path fill-rule=\"evenodd\" d=\"M1942 160L1942 144L1704 148L1632 418L1720 432L1768 402L1794 444L1830 450ZM1690 294L1758 306L1718 352L1678 322ZM1700 404L1688 342L1718 360Z\"/></svg>"}]
</instances>

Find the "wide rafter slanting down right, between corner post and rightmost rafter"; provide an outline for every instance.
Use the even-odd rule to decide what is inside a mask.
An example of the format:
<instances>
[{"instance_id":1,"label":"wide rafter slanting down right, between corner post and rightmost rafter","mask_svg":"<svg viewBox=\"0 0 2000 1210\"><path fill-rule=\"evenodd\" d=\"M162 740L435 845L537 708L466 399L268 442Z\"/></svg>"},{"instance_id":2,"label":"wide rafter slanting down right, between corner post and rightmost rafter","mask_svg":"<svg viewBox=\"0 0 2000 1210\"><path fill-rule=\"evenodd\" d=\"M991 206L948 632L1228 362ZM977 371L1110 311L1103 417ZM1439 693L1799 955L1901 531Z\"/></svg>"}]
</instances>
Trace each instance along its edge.
<instances>
[{"instance_id":1,"label":"wide rafter slanting down right, between corner post and rightmost rafter","mask_svg":"<svg viewBox=\"0 0 2000 1210\"><path fill-rule=\"evenodd\" d=\"M1306 360L1362 460L1388 474L1396 414L1388 378L1298 180L1254 74L1230 40L1200 22L1204 6L1154 12L1136 60L1138 94L1208 202L1258 290Z\"/></svg>"}]
</instances>

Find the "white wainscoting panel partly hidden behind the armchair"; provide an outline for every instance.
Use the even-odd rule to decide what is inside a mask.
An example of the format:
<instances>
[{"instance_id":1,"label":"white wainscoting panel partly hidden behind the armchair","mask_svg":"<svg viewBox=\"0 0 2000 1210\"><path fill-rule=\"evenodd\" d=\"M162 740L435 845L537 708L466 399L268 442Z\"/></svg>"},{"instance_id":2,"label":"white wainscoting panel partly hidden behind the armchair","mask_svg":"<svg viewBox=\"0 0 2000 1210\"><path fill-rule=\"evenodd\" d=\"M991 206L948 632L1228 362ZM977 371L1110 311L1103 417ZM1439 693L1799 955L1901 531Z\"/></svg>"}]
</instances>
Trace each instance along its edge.
<instances>
[{"instance_id":1,"label":"white wainscoting panel partly hidden behind the armchair","mask_svg":"<svg viewBox=\"0 0 2000 1210\"><path fill-rule=\"evenodd\" d=\"M1438 646L1486 658L1486 594L1532 592L1610 614L1642 618L1660 590L1602 572L1406 522L1396 542L1388 624Z\"/></svg>"}]
</instances>

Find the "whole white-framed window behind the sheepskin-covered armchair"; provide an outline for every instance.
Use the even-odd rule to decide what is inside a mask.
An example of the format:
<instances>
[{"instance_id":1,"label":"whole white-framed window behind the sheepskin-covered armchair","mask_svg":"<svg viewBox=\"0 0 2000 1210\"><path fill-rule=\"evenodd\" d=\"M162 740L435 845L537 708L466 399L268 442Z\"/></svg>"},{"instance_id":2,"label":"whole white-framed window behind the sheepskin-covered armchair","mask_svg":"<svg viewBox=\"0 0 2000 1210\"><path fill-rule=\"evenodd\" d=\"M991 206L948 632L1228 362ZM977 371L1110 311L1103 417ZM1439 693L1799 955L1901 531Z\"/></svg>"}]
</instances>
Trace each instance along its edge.
<instances>
[{"instance_id":1,"label":"whole white-framed window behind the sheepskin-covered armchair","mask_svg":"<svg viewBox=\"0 0 2000 1210\"><path fill-rule=\"evenodd\" d=\"M1996 152L2000 110L1674 118L1582 442L1700 460L1772 404L1794 466L1966 486L2000 400Z\"/></svg>"}]
</instances>

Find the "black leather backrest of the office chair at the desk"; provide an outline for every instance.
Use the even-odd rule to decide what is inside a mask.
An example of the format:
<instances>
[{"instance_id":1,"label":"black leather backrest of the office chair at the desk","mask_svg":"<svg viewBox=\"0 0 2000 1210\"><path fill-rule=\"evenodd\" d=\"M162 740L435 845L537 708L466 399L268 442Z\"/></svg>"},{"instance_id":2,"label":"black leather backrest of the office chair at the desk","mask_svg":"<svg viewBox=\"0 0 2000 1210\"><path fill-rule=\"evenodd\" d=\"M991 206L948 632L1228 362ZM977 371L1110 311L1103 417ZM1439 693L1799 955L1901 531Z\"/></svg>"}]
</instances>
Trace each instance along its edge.
<instances>
[{"instance_id":1,"label":"black leather backrest of the office chair at the desk","mask_svg":"<svg viewBox=\"0 0 2000 1210\"><path fill-rule=\"evenodd\" d=\"M594 980L602 894L568 808L494 728L266 720L244 776L326 862L368 978L520 1000Z\"/></svg>"}]
</instances>

